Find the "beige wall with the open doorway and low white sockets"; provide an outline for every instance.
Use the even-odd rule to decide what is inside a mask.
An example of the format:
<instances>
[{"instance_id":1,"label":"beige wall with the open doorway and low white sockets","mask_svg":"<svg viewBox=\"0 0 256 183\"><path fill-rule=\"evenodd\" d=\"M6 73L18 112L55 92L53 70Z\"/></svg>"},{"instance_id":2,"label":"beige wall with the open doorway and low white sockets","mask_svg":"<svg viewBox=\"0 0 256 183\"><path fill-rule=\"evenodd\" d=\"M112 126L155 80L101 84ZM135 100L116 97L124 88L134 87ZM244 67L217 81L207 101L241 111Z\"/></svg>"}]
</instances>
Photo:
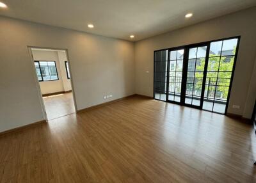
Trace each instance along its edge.
<instances>
[{"instance_id":1,"label":"beige wall with the open doorway and low white sockets","mask_svg":"<svg viewBox=\"0 0 256 183\"><path fill-rule=\"evenodd\" d=\"M132 42L7 17L0 40L0 132L44 119L28 46L68 49L77 109L134 94Z\"/></svg>"}]
</instances>

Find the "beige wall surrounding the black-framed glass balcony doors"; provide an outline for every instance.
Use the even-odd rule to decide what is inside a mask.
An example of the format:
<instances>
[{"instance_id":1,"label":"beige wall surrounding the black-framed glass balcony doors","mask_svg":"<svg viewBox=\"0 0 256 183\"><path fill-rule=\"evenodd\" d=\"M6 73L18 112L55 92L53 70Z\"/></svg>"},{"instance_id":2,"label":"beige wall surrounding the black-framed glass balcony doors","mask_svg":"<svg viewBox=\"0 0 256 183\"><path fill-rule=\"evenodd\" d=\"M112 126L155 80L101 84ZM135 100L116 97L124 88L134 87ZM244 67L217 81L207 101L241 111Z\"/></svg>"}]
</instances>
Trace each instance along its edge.
<instances>
[{"instance_id":1,"label":"beige wall surrounding the black-framed glass balcony doors","mask_svg":"<svg viewBox=\"0 0 256 183\"><path fill-rule=\"evenodd\" d=\"M250 118L256 95L248 92L256 54L255 17L256 7L136 42L136 93L153 97L155 50L241 35L228 113ZM232 108L233 104L240 109Z\"/></svg>"}]
</instances>

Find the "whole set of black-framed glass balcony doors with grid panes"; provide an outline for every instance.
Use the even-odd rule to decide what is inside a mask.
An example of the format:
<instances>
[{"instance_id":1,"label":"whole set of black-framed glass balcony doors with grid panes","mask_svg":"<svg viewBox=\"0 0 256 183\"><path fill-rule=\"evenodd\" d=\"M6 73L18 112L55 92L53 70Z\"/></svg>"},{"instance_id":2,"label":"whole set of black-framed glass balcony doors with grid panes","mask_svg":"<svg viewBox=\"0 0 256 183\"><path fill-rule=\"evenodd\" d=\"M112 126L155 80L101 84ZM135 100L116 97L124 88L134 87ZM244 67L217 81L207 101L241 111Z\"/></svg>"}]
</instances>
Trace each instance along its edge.
<instances>
[{"instance_id":1,"label":"whole set of black-framed glass balcony doors with grid panes","mask_svg":"<svg viewBox=\"0 0 256 183\"><path fill-rule=\"evenodd\" d=\"M227 113L240 37L154 52L154 99Z\"/></svg>"}]
</instances>

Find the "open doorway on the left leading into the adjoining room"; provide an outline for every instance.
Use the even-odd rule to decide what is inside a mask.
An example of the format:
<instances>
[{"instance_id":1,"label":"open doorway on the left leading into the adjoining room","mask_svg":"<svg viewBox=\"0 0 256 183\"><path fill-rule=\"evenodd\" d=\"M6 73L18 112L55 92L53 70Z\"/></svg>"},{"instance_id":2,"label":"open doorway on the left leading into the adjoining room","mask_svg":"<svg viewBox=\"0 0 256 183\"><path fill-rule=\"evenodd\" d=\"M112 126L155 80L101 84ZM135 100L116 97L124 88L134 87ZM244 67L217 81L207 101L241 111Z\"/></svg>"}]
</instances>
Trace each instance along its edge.
<instances>
[{"instance_id":1,"label":"open doorway on the left leading into the adjoining room","mask_svg":"<svg viewBox=\"0 0 256 183\"><path fill-rule=\"evenodd\" d=\"M45 119L76 113L67 50L29 47L29 52Z\"/></svg>"}]
</instances>

